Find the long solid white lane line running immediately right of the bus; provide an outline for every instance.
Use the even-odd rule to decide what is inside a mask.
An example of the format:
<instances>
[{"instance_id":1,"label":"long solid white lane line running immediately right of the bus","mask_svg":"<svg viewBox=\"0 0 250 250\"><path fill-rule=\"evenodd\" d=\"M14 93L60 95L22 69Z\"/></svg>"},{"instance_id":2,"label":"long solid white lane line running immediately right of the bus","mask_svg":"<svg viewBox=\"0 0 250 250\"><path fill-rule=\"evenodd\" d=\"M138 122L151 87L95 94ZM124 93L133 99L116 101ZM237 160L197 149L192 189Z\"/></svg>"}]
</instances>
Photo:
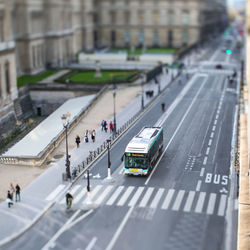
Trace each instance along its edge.
<instances>
[{"instance_id":1,"label":"long solid white lane line running immediately right of the bus","mask_svg":"<svg viewBox=\"0 0 250 250\"><path fill-rule=\"evenodd\" d=\"M189 106L188 109L186 110L186 112L185 112L184 116L182 117L182 119L181 119L181 121L180 121L178 127L176 128L174 134L173 134L172 137L170 138L170 140L169 140L169 142L168 142L166 148L164 149L163 153L161 154L160 158L158 159L157 163L155 164L155 167L153 168L153 171L151 172L151 174L149 175L149 177L148 177L147 180L145 181L145 185L148 185L148 182L150 181L150 179L151 179L152 175L154 174L155 170L157 169L157 167L158 167L158 165L159 165L159 163L160 163L160 161L161 161L163 155L164 155L165 152L167 151L169 145L170 145L171 142L173 141L175 135L176 135L177 132L179 131L179 129L180 129L182 123L183 123L184 120L186 119L186 117L187 117L189 111L191 110L192 106L194 105L196 99L198 98L198 95L200 94L200 92L201 92L201 90L202 90L202 88L203 88L203 85L205 85L205 81L207 81L207 78L203 79L203 82L202 82L202 84L201 84L201 86L200 86L198 92L196 93L196 95L195 95L195 97L193 98L193 100L192 100L190 106ZM159 125L160 125L160 124L159 124Z\"/></svg>"}]
</instances>

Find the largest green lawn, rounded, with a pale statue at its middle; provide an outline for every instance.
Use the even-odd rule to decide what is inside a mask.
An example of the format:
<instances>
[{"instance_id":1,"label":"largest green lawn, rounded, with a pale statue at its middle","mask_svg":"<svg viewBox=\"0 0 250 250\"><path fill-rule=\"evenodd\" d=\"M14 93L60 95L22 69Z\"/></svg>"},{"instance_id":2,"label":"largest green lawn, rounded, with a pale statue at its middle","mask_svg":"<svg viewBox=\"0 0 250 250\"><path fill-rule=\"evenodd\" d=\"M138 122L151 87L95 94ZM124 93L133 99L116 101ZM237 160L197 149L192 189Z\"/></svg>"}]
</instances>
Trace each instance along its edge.
<instances>
[{"instance_id":1,"label":"largest green lawn, rounded, with a pale statue at its middle","mask_svg":"<svg viewBox=\"0 0 250 250\"><path fill-rule=\"evenodd\" d=\"M110 83L112 79L115 82L126 82L137 71L101 71L102 77L95 77L95 71L79 72L69 78L70 82L83 83Z\"/></svg>"}]
</instances>

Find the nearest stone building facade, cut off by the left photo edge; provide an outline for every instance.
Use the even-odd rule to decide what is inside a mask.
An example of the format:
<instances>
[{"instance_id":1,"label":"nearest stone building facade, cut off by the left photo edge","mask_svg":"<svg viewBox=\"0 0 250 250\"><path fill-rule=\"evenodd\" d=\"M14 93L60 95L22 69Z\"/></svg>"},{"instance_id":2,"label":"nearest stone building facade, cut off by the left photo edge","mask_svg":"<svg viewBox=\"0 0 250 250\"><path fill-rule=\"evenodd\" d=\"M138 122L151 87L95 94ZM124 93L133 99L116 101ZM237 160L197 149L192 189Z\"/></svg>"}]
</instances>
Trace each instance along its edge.
<instances>
[{"instance_id":1,"label":"nearest stone building facade, cut off by the left photo edge","mask_svg":"<svg viewBox=\"0 0 250 250\"><path fill-rule=\"evenodd\" d=\"M16 86L16 57L9 0L0 1L0 127L1 136L15 127L17 115L14 104L18 91Z\"/></svg>"}]
</instances>

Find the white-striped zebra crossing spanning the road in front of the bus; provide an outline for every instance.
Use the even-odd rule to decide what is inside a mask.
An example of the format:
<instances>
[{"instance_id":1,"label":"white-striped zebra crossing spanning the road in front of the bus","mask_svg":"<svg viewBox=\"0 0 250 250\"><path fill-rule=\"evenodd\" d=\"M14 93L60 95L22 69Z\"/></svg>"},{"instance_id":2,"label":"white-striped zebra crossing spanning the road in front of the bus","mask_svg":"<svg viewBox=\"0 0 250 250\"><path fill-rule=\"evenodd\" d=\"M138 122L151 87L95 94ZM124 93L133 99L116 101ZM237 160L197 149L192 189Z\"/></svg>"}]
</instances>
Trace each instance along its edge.
<instances>
[{"instance_id":1,"label":"white-striped zebra crossing spanning the road in front of the bus","mask_svg":"<svg viewBox=\"0 0 250 250\"><path fill-rule=\"evenodd\" d=\"M59 185L46 197L46 200L51 201L63 189L63 185ZM84 186L76 185L69 192L74 196L74 204L86 204L88 201ZM183 211L217 216L225 216L228 203L228 197L225 194L143 186L97 185L90 194L92 202L97 205L137 206L139 208L147 207L163 211ZM64 203L65 198L59 200L59 204ZM234 209L237 207L235 206Z\"/></svg>"}]
</instances>

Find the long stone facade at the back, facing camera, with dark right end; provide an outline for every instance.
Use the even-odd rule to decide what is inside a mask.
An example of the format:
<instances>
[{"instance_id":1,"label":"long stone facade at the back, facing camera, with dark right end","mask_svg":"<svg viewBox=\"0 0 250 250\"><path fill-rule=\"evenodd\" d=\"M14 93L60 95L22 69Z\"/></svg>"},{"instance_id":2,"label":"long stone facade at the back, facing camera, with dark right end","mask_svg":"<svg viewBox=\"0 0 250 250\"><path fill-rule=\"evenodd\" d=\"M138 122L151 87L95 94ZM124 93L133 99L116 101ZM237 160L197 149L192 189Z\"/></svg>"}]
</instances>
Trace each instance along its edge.
<instances>
[{"instance_id":1,"label":"long stone facade at the back, facing camera, with dark right end","mask_svg":"<svg viewBox=\"0 0 250 250\"><path fill-rule=\"evenodd\" d=\"M100 0L95 7L98 46L179 48L226 25L224 0Z\"/></svg>"}]
</instances>

